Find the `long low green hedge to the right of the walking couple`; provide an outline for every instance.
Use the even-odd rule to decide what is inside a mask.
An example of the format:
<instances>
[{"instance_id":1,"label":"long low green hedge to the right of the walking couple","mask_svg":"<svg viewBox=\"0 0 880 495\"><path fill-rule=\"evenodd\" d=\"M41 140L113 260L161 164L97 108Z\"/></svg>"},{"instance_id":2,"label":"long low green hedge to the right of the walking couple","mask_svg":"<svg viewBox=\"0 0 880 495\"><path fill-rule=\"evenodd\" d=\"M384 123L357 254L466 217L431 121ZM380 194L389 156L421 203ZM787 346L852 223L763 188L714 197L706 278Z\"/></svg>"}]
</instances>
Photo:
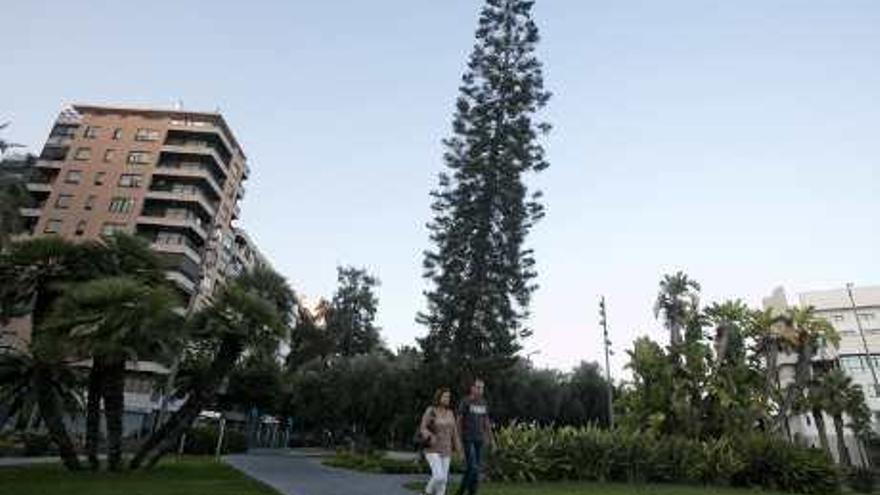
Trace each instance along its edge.
<instances>
[{"instance_id":1,"label":"long low green hedge to the right of the walking couple","mask_svg":"<svg viewBox=\"0 0 880 495\"><path fill-rule=\"evenodd\" d=\"M497 481L595 480L762 487L795 493L839 490L821 451L761 436L700 442L595 427L512 425L497 433L488 462Z\"/></svg>"}]
</instances>

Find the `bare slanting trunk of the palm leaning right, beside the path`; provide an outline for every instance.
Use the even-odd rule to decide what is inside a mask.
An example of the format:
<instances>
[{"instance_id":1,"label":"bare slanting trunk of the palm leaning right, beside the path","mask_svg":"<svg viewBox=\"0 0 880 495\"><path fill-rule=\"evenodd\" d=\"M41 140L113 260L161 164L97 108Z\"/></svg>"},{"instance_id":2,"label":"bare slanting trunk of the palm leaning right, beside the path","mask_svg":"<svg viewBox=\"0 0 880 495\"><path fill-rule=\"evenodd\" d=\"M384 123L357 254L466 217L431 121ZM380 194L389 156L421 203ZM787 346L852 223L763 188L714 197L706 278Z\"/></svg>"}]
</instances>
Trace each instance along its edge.
<instances>
[{"instance_id":1,"label":"bare slanting trunk of the palm leaning right, beside the path","mask_svg":"<svg viewBox=\"0 0 880 495\"><path fill-rule=\"evenodd\" d=\"M153 432L141 445L131 460L130 468L141 466L151 468L159 462L166 452L174 448L183 435L192 426L199 413L207 407L217 393L223 380L229 375L244 349L244 342L239 337L227 337L220 343L220 349L211 363L208 379L197 390L190 391L186 402L168 421Z\"/></svg>"}]
</instances>

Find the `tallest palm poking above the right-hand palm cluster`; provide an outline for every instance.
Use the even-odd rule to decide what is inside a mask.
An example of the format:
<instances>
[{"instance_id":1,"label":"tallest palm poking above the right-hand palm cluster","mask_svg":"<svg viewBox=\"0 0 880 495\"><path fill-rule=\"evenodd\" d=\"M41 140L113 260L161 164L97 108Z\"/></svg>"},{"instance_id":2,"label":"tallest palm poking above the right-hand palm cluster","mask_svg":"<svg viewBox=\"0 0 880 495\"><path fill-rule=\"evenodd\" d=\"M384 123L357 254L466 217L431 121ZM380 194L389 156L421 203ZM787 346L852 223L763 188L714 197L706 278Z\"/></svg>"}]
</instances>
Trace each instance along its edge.
<instances>
[{"instance_id":1,"label":"tallest palm poking above the right-hand palm cluster","mask_svg":"<svg viewBox=\"0 0 880 495\"><path fill-rule=\"evenodd\" d=\"M673 349L682 342L682 330L699 307L700 284L684 272L665 275L660 282L660 292L654 303L654 315L663 316L669 330L669 344Z\"/></svg>"}]
</instances>

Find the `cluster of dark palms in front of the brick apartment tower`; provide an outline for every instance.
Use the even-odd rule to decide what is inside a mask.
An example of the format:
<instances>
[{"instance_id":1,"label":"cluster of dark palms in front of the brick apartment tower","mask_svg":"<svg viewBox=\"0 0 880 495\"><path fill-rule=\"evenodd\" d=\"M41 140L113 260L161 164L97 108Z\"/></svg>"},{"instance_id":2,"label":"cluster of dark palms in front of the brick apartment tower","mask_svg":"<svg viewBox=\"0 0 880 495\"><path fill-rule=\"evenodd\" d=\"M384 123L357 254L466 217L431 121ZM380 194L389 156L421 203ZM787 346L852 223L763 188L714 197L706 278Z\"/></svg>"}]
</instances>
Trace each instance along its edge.
<instances>
[{"instance_id":1,"label":"cluster of dark palms in front of the brick apartment tower","mask_svg":"<svg viewBox=\"0 0 880 495\"><path fill-rule=\"evenodd\" d=\"M80 469L65 419L81 413L84 402L89 464L99 467L103 411L107 464L122 469L126 366L183 360L194 371L175 391L182 406L130 463L133 469L154 465L211 406L248 349L283 336L295 297L280 275L255 268L226 284L209 305L187 312L184 304L161 258L137 237L12 243L0 252L0 323L28 318L32 335L26 348L0 354L0 401L7 408L0 420L39 418L65 466Z\"/></svg>"}]
</instances>

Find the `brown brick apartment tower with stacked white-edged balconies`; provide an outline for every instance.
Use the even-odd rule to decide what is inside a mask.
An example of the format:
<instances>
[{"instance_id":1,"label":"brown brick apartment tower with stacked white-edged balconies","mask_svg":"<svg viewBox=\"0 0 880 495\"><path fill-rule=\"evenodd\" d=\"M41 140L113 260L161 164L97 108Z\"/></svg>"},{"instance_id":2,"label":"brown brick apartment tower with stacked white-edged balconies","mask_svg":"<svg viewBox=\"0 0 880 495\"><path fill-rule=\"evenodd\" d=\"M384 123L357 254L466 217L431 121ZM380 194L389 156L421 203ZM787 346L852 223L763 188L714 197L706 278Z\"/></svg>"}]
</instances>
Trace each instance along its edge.
<instances>
[{"instance_id":1,"label":"brown brick apartment tower with stacked white-edged balconies","mask_svg":"<svg viewBox=\"0 0 880 495\"><path fill-rule=\"evenodd\" d=\"M222 282L249 169L219 113L72 105L35 166L34 207L21 212L30 235L140 235L190 304Z\"/></svg>"}]
</instances>

